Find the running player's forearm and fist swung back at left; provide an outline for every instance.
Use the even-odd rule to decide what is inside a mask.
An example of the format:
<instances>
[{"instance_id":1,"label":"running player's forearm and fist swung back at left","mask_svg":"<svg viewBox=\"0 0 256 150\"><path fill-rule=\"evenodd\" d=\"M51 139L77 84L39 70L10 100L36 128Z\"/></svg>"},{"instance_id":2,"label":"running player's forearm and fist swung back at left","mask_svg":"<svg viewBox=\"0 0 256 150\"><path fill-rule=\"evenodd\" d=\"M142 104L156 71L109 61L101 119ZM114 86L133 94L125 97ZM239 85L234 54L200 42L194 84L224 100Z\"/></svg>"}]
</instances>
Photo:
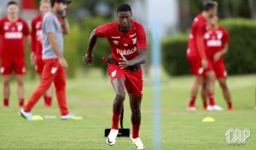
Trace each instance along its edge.
<instances>
[{"instance_id":1,"label":"running player's forearm and fist swung back at left","mask_svg":"<svg viewBox=\"0 0 256 150\"><path fill-rule=\"evenodd\" d=\"M89 43L88 43L88 47L87 47L87 51L85 52L85 55L83 57L83 62L84 64L90 64L93 60L93 55L92 55L92 50L96 44L97 41L97 36L96 36L96 29L94 29L91 33L90 33L90 38L89 38Z\"/></svg>"}]
</instances>

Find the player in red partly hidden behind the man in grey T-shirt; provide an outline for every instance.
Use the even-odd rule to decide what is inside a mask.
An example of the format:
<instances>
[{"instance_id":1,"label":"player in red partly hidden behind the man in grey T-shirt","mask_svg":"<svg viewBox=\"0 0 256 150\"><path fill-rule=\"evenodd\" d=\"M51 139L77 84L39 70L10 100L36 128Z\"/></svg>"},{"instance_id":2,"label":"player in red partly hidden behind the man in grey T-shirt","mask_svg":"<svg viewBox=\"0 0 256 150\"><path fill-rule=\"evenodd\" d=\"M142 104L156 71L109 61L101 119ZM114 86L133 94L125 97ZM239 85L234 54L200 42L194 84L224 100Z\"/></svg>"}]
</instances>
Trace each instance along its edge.
<instances>
[{"instance_id":1,"label":"player in red partly hidden behind the man in grey T-shirt","mask_svg":"<svg viewBox=\"0 0 256 150\"><path fill-rule=\"evenodd\" d=\"M46 14L50 9L50 1L49 0L41 0L40 2L40 12L38 16L36 16L32 20L32 44L31 44L31 63L35 65L36 72L41 77L44 61L42 59L42 51L43 51L43 37L42 37L42 21L44 14ZM53 84L50 86L48 91L44 94L44 106L50 107L53 95Z\"/></svg>"}]
</instances>

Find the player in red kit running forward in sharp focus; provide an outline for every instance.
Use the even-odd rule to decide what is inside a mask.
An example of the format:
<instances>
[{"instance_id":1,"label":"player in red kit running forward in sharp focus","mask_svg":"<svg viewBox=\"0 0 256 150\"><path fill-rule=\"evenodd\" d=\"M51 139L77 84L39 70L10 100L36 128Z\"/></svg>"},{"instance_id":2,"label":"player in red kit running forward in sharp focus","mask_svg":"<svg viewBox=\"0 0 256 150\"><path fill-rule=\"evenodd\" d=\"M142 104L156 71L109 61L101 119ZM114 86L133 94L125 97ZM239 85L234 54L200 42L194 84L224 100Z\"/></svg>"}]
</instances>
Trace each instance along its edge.
<instances>
[{"instance_id":1,"label":"player in red kit running forward in sharp focus","mask_svg":"<svg viewBox=\"0 0 256 150\"><path fill-rule=\"evenodd\" d=\"M120 4L117 9L118 21L97 26L91 32L85 64L93 61L92 50L97 38L107 38L111 45L111 56L108 64L108 75L115 91L113 100L112 128L107 138L112 146L119 132L119 118L125 101L125 89L130 98L132 135L131 141L137 149L144 149L139 137L141 124L141 101L143 98L143 74L141 64L146 61L147 40L144 28L132 20L131 6Z\"/></svg>"}]
</instances>

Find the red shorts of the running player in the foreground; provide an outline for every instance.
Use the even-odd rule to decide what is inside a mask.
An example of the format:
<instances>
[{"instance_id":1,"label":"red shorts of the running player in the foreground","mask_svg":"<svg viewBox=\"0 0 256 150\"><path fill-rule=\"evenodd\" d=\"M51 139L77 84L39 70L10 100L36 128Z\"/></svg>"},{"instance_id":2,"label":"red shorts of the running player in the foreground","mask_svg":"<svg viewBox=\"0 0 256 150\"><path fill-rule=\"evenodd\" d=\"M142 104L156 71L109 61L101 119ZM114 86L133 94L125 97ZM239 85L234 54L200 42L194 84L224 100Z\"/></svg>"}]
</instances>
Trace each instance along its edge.
<instances>
[{"instance_id":1,"label":"red shorts of the running player in the foreground","mask_svg":"<svg viewBox=\"0 0 256 150\"><path fill-rule=\"evenodd\" d=\"M120 66L115 64L108 64L108 76L111 80L115 78L123 78L125 81L125 88L128 93L133 95L143 95L143 72L142 69L138 69L135 72L131 72L128 69L121 69Z\"/></svg>"}]
</instances>

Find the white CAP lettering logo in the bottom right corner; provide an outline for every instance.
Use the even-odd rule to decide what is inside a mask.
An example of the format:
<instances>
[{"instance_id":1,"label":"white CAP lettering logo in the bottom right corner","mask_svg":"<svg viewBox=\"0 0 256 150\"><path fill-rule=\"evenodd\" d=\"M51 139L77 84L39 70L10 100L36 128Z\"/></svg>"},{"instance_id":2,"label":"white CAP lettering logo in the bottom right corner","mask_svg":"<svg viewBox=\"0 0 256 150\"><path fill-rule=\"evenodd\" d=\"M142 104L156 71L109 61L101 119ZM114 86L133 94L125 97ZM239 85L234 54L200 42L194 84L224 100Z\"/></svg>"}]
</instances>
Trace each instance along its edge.
<instances>
[{"instance_id":1,"label":"white CAP lettering logo in the bottom right corner","mask_svg":"<svg viewBox=\"0 0 256 150\"><path fill-rule=\"evenodd\" d=\"M248 129L240 130L238 128L229 129L225 133L226 142L228 144L241 145L245 144L247 139L251 136L251 131Z\"/></svg>"}]
</instances>

